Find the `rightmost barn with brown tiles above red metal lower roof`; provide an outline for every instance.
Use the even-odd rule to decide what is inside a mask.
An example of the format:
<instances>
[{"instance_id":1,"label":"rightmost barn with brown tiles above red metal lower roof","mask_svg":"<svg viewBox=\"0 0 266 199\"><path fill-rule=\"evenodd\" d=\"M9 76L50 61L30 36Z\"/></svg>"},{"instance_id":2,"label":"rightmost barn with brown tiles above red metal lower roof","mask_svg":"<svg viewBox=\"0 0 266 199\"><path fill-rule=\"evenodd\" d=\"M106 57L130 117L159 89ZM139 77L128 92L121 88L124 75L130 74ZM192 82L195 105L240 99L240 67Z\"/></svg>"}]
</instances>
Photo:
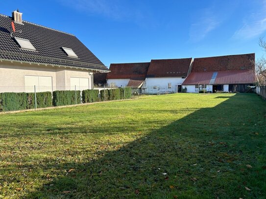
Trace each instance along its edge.
<instances>
[{"instance_id":1,"label":"rightmost barn with brown tiles above red metal lower roof","mask_svg":"<svg viewBox=\"0 0 266 199\"><path fill-rule=\"evenodd\" d=\"M187 92L243 92L255 82L255 53L195 58L182 84Z\"/></svg>"}]
</instances>

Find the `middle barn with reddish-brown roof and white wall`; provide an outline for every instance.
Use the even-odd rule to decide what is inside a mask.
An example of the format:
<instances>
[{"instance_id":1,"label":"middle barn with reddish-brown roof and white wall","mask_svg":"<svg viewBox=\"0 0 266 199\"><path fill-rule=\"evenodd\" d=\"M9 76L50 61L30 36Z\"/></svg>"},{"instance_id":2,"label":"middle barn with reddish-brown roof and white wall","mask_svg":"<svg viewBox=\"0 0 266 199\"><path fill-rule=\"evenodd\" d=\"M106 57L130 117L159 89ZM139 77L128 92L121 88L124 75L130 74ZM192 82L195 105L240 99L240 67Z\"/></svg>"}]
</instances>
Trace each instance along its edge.
<instances>
[{"instance_id":1,"label":"middle barn with reddish-brown roof and white wall","mask_svg":"<svg viewBox=\"0 0 266 199\"><path fill-rule=\"evenodd\" d=\"M180 92L192 62L192 58L151 60L142 92Z\"/></svg>"}]
</instances>

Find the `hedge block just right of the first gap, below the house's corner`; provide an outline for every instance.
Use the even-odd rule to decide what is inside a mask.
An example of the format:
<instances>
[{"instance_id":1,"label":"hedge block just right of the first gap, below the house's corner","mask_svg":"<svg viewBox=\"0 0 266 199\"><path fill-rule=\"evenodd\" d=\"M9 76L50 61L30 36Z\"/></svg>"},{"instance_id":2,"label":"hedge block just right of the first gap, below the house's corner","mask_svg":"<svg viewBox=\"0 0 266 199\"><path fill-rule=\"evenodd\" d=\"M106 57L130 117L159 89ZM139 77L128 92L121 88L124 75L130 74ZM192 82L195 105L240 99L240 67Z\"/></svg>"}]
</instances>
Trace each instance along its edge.
<instances>
[{"instance_id":1,"label":"hedge block just right of the first gap, below the house's corner","mask_svg":"<svg viewBox=\"0 0 266 199\"><path fill-rule=\"evenodd\" d=\"M52 97L52 105L55 107L80 104L80 90L76 90L76 96L74 90L55 90L52 92Z\"/></svg>"}]
</instances>

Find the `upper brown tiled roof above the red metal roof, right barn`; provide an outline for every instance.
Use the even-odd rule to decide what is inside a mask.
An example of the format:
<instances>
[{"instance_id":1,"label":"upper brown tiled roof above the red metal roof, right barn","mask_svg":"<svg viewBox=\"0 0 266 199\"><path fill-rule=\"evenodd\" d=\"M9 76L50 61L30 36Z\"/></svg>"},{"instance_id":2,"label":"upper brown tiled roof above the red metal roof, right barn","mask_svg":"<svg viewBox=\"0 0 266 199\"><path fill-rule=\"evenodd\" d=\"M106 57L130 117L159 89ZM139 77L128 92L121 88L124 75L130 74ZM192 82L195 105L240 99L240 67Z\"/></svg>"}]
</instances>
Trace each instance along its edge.
<instances>
[{"instance_id":1,"label":"upper brown tiled roof above the red metal roof, right barn","mask_svg":"<svg viewBox=\"0 0 266 199\"><path fill-rule=\"evenodd\" d=\"M191 72L254 69L255 53L195 58Z\"/></svg>"}]
</instances>

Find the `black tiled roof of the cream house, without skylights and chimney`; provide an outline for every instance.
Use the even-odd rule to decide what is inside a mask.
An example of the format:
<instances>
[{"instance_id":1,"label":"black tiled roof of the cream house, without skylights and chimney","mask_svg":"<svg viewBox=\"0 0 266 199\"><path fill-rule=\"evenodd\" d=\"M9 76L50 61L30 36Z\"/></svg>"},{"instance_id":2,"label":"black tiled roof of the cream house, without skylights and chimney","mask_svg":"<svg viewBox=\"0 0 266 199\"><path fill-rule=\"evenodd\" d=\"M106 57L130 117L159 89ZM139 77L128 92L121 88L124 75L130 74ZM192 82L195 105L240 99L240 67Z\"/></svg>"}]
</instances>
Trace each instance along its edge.
<instances>
[{"instance_id":1,"label":"black tiled roof of the cream house, without skylights and chimney","mask_svg":"<svg viewBox=\"0 0 266 199\"><path fill-rule=\"evenodd\" d=\"M31 22L15 22L16 32L12 36L28 39L36 51L21 49L10 35L11 21L11 17L0 15L0 59L108 70L74 35ZM62 47L72 48L78 58L69 57Z\"/></svg>"}]
</instances>

